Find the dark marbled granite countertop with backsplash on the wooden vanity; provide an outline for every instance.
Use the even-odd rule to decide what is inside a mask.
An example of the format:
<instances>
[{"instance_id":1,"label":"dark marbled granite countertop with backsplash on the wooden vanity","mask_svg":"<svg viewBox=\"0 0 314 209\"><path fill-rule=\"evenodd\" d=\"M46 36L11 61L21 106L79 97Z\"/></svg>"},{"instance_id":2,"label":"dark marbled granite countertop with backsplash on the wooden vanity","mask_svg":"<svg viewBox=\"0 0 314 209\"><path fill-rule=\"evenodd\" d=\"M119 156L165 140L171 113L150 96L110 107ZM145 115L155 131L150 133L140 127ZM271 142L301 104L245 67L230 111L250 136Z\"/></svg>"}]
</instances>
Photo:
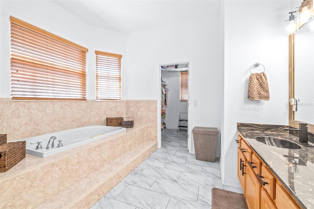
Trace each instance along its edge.
<instances>
[{"instance_id":1,"label":"dark marbled granite countertop with backsplash on the wooden vanity","mask_svg":"<svg viewBox=\"0 0 314 209\"><path fill-rule=\"evenodd\" d=\"M238 133L261 157L297 202L303 208L314 209L314 147L278 148L255 139L256 136L274 136L290 141L299 140L284 128L288 126L238 123ZM309 145L314 146L311 142Z\"/></svg>"}]
</instances>

